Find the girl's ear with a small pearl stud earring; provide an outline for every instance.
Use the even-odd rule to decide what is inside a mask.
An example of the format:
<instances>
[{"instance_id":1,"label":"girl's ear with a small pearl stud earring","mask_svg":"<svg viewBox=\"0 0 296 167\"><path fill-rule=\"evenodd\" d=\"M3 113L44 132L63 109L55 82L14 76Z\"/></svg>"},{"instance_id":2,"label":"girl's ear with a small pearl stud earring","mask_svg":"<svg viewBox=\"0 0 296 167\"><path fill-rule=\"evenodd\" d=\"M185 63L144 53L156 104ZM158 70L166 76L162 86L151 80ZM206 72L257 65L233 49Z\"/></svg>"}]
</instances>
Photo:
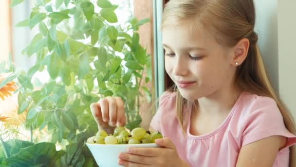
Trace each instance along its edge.
<instances>
[{"instance_id":1,"label":"girl's ear with a small pearl stud earring","mask_svg":"<svg viewBox=\"0 0 296 167\"><path fill-rule=\"evenodd\" d=\"M233 58L231 63L239 66L247 58L250 41L246 38L241 39L233 48Z\"/></svg>"}]
</instances>

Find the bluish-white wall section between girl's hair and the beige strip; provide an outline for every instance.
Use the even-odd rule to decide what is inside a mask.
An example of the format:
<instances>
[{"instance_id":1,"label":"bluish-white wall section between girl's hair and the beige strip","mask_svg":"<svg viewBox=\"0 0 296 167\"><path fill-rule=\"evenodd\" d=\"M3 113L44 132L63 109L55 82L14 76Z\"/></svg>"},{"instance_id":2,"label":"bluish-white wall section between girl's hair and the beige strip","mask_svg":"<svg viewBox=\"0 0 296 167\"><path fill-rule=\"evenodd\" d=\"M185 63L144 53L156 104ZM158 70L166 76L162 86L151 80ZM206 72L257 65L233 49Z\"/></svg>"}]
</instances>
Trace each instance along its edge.
<instances>
[{"instance_id":1,"label":"bluish-white wall section between girl's hair and the beige strip","mask_svg":"<svg viewBox=\"0 0 296 167\"><path fill-rule=\"evenodd\" d=\"M273 87L278 92L277 0L254 0L258 46Z\"/></svg>"}]
</instances>

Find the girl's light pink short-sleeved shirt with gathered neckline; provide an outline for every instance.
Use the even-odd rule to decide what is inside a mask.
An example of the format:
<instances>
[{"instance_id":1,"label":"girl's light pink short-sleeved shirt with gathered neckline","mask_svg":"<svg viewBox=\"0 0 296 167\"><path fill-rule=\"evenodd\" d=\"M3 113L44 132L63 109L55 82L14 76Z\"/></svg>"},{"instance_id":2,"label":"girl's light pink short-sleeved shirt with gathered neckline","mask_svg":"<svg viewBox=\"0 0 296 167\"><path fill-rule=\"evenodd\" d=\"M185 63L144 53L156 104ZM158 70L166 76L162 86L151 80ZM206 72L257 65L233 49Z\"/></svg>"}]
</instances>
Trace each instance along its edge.
<instances>
[{"instance_id":1,"label":"girl's light pink short-sleeved shirt with gathered neckline","mask_svg":"<svg viewBox=\"0 0 296 167\"><path fill-rule=\"evenodd\" d=\"M289 146L296 144L296 136L286 129L273 99L241 93L217 129L194 136L186 126L184 136L176 117L175 96L171 92L162 95L150 125L168 137L179 156L192 167L235 167L242 146L273 135L288 138L285 148L277 153L273 167L288 167ZM190 125L190 119L188 121Z\"/></svg>"}]
</instances>

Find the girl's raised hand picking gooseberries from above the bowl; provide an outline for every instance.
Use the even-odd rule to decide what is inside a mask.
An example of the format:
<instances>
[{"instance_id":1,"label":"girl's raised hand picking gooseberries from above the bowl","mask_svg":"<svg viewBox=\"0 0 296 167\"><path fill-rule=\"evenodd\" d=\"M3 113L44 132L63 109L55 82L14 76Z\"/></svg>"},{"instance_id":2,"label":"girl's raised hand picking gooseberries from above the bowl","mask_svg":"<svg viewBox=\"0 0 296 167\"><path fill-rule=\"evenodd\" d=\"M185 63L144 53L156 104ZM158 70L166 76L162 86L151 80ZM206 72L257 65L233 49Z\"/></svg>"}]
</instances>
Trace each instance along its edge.
<instances>
[{"instance_id":1,"label":"girl's raised hand picking gooseberries from above the bowl","mask_svg":"<svg viewBox=\"0 0 296 167\"><path fill-rule=\"evenodd\" d=\"M91 104L91 111L99 130L113 133L115 126L126 124L124 102L120 97L107 97Z\"/></svg>"}]
</instances>

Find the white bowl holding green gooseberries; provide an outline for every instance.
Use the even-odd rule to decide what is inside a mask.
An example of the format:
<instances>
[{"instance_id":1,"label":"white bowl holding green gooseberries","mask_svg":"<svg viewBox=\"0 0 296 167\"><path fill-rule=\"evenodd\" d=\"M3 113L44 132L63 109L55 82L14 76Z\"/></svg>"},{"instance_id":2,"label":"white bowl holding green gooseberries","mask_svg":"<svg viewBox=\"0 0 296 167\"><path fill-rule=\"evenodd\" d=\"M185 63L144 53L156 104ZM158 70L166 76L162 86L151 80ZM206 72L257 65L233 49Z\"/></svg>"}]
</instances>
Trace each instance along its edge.
<instances>
[{"instance_id":1,"label":"white bowl holding green gooseberries","mask_svg":"<svg viewBox=\"0 0 296 167\"><path fill-rule=\"evenodd\" d=\"M99 167L122 167L118 165L118 155L129 147L159 147L155 143L130 145L99 145L86 143Z\"/></svg>"}]
</instances>

